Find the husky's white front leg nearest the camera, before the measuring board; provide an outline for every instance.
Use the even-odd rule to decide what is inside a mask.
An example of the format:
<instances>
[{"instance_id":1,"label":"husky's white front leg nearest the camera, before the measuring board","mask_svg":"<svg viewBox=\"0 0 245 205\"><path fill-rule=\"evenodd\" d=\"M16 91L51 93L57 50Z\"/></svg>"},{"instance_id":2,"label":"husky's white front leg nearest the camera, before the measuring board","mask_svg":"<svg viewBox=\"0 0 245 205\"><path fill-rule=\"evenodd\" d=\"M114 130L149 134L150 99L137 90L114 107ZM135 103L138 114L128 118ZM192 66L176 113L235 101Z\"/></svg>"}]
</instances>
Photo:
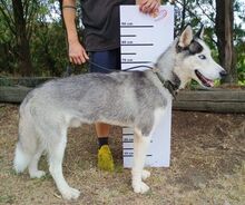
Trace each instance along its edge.
<instances>
[{"instance_id":1,"label":"husky's white front leg nearest the camera, before the measuring board","mask_svg":"<svg viewBox=\"0 0 245 205\"><path fill-rule=\"evenodd\" d=\"M134 165L131 169L131 186L135 193L144 194L149 189L149 187L143 182L145 173L144 165L149 141L149 136L143 136L141 131L135 130Z\"/></svg>"}]
</instances>

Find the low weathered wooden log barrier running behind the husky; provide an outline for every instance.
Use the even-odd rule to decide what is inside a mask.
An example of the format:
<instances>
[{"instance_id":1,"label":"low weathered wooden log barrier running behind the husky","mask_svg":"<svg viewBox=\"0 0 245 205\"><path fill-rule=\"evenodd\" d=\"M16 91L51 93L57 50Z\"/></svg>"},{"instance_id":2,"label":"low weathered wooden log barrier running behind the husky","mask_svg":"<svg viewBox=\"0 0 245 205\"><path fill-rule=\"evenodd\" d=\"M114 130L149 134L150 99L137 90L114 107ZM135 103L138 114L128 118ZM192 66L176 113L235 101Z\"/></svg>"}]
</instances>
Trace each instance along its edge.
<instances>
[{"instance_id":1,"label":"low weathered wooden log barrier running behind the husky","mask_svg":"<svg viewBox=\"0 0 245 205\"><path fill-rule=\"evenodd\" d=\"M1 86L0 79L0 101L19 104L33 89L32 87L49 79L12 79L8 86ZM245 89L182 90L174 100L173 108L188 111L245 114Z\"/></svg>"}]
</instances>

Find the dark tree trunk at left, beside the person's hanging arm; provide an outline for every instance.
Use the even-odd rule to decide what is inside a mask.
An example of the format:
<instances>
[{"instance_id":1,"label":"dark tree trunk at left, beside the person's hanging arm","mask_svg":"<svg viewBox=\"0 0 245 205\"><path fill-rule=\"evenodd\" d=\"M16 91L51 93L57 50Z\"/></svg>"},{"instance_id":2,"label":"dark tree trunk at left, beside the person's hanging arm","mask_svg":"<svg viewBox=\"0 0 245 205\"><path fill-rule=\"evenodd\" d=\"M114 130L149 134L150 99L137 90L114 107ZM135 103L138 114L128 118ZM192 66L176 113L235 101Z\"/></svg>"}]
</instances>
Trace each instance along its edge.
<instances>
[{"instance_id":1,"label":"dark tree trunk at left, beside the person's hanging arm","mask_svg":"<svg viewBox=\"0 0 245 205\"><path fill-rule=\"evenodd\" d=\"M21 0L12 0L13 18L16 27L16 37L18 45L19 67L22 76L33 74L30 58L30 46L27 37L26 19L23 16L23 6Z\"/></svg>"}]
</instances>

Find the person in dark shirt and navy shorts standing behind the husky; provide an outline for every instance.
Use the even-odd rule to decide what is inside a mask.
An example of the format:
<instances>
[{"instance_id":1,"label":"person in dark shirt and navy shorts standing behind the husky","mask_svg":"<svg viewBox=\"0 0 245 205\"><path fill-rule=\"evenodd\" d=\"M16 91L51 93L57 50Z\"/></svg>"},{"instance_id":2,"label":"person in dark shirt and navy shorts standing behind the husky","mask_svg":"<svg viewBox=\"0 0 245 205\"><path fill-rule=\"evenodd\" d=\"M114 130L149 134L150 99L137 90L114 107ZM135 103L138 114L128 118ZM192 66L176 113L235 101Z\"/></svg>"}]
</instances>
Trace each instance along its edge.
<instances>
[{"instance_id":1,"label":"person in dark shirt and navy shorts standing behind the husky","mask_svg":"<svg viewBox=\"0 0 245 205\"><path fill-rule=\"evenodd\" d=\"M146 14L157 14L160 0L81 0L81 20L84 29L84 46L81 46L76 29L76 0L62 1L62 13L69 45L69 60L81 65L86 61L120 69L120 29L119 6L139 4L139 10ZM89 65L91 72L108 72ZM97 123L96 131L99 141L98 167L114 170L114 160L108 146L110 125Z\"/></svg>"}]
</instances>

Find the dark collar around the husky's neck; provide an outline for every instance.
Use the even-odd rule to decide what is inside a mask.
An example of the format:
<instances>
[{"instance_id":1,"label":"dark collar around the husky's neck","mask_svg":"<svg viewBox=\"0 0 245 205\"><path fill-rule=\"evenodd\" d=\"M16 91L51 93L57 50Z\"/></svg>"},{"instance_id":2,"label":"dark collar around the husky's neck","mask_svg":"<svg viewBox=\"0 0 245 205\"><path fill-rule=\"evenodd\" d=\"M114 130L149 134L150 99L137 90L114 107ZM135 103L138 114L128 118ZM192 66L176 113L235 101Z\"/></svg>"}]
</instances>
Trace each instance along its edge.
<instances>
[{"instance_id":1,"label":"dark collar around the husky's neck","mask_svg":"<svg viewBox=\"0 0 245 205\"><path fill-rule=\"evenodd\" d=\"M165 80L164 77L159 74L159 69L157 68L153 68L151 69L154 74L156 74L157 78L160 80L160 82L163 84L163 86L168 89L168 91L171 94L171 96L174 97L174 99L176 99L177 96L177 90L179 88L179 84L180 80L179 78L175 75L175 77L177 78L176 81L178 81L177 84L173 84L170 80Z\"/></svg>"}]
</instances>

